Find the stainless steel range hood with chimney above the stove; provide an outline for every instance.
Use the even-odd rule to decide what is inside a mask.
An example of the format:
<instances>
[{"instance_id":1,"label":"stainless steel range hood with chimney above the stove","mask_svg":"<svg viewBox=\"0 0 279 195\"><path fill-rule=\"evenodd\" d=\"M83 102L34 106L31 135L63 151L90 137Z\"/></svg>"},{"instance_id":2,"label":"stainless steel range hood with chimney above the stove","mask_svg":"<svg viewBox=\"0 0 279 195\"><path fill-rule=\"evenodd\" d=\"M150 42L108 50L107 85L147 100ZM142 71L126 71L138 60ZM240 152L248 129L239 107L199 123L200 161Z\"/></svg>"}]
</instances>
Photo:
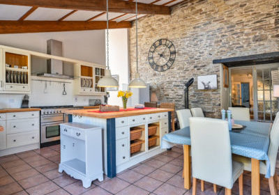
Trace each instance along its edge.
<instances>
[{"instance_id":1,"label":"stainless steel range hood with chimney above the stove","mask_svg":"<svg viewBox=\"0 0 279 195\"><path fill-rule=\"evenodd\" d=\"M47 54L62 56L62 42L54 39L47 40ZM40 72L37 76L58 79L74 79L73 76L63 74L63 61L56 59L48 59L47 72Z\"/></svg>"}]
</instances>

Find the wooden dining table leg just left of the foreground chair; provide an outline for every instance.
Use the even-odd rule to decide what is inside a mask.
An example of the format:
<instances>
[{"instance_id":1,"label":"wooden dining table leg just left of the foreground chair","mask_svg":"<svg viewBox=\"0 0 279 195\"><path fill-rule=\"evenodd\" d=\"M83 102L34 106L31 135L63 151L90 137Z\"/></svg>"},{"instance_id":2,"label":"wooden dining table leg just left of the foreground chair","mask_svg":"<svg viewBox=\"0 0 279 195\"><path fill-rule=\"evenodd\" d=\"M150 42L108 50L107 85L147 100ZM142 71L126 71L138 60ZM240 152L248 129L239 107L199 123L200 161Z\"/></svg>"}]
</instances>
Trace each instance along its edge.
<instances>
[{"instance_id":1,"label":"wooden dining table leg just left of the foreground chair","mask_svg":"<svg viewBox=\"0 0 279 195\"><path fill-rule=\"evenodd\" d=\"M190 146L183 145L183 174L184 174L184 188L191 188L191 161L190 161Z\"/></svg>"}]
</instances>

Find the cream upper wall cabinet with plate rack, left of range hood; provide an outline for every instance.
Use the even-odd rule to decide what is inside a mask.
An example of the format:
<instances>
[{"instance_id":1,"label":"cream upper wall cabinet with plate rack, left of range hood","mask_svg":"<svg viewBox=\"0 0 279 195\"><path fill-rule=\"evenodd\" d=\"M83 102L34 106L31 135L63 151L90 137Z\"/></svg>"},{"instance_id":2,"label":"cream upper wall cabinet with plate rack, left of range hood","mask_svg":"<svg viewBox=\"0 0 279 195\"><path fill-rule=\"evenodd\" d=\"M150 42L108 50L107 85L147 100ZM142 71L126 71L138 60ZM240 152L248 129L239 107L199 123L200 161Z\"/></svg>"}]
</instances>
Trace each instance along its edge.
<instances>
[{"instance_id":1,"label":"cream upper wall cabinet with plate rack, left of range hood","mask_svg":"<svg viewBox=\"0 0 279 195\"><path fill-rule=\"evenodd\" d=\"M0 93L30 92L30 54L0 49Z\"/></svg>"}]
</instances>

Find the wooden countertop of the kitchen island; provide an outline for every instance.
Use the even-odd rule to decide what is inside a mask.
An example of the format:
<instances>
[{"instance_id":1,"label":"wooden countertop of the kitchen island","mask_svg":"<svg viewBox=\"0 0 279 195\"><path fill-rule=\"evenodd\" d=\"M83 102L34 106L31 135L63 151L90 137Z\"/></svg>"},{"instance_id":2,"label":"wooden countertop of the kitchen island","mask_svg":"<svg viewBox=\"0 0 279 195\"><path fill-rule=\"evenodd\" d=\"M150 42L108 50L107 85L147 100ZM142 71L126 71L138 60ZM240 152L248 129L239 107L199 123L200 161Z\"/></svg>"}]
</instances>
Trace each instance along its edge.
<instances>
[{"instance_id":1,"label":"wooden countertop of the kitchen island","mask_svg":"<svg viewBox=\"0 0 279 195\"><path fill-rule=\"evenodd\" d=\"M114 112L103 112L96 113L90 111L98 111L98 109L77 109L77 110L66 110L65 114L73 114L77 116L89 116L94 118L119 118L126 116L136 116L141 114L154 114L159 112L173 111L173 109L142 109L142 110L134 110L134 111L114 111Z\"/></svg>"}]
</instances>

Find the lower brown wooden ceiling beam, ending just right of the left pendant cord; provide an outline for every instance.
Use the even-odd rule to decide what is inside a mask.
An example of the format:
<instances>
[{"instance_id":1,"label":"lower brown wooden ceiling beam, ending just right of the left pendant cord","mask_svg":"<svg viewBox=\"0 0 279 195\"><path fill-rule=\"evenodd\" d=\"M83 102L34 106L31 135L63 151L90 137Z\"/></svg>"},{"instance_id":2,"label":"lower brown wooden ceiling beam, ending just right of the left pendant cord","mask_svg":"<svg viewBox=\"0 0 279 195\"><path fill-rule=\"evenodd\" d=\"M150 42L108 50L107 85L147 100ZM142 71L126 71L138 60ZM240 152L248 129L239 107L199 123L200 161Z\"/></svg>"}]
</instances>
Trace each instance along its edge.
<instances>
[{"instance_id":1,"label":"lower brown wooden ceiling beam, ending just right of the left pendant cord","mask_svg":"<svg viewBox=\"0 0 279 195\"><path fill-rule=\"evenodd\" d=\"M110 22L110 29L130 28L130 22ZM105 21L0 21L0 34L7 33L40 33L40 32L60 32L60 31L87 31L106 29Z\"/></svg>"}]
</instances>

